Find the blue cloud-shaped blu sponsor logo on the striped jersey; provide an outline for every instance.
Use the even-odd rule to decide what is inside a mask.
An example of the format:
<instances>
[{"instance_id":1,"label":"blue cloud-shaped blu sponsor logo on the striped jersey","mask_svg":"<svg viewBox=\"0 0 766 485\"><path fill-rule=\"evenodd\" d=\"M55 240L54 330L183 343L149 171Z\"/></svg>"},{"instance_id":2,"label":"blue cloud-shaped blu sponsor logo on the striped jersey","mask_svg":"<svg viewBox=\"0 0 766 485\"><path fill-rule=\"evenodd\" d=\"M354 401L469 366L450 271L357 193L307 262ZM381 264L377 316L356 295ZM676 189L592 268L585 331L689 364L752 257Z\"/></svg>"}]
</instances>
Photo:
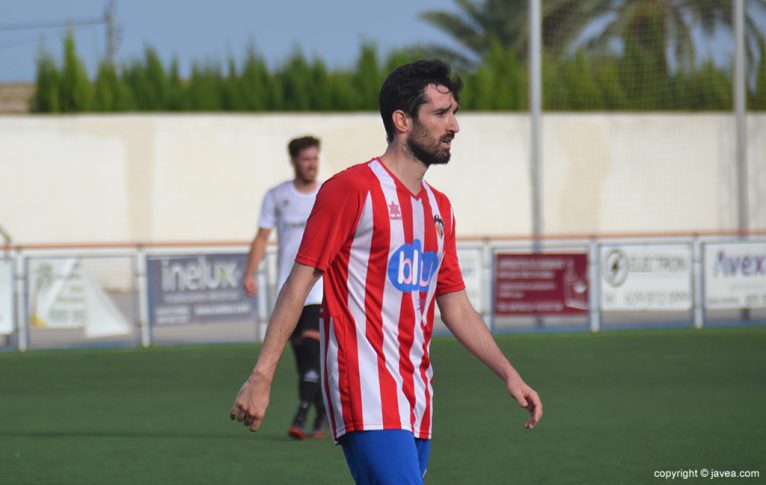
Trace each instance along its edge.
<instances>
[{"instance_id":1,"label":"blue cloud-shaped blu sponsor logo on the striped jersey","mask_svg":"<svg viewBox=\"0 0 766 485\"><path fill-rule=\"evenodd\" d=\"M439 266L439 257L433 251L423 251L423 243L415 239L403 244L388 260L388 279L402 292L427 292Z\"/></svg>"}]
</instances>

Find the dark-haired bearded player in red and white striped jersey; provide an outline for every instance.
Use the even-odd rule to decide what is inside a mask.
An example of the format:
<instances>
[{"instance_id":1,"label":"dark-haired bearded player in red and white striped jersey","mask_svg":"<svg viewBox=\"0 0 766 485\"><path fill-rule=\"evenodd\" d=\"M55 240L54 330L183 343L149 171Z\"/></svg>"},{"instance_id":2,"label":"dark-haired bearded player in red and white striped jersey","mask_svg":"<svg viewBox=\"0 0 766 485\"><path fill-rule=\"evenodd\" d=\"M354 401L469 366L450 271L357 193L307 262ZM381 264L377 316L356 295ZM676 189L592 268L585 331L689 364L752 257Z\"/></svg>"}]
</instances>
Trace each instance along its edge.
<instances>
[{"instance_id":1,"label":"dark-haired bearded player in red and white striped jersey","mask_svg":"<svg viewBox=\"0 0 766 485\"><path fill-rule=\"evenodd\" d=\"M326 181L266 339L230 415L256 431L305 294L324 279L322 386L333 437L357 483L423 483L433 410L434 304L453 335L530 413L537 393L503 355L465 293L447 197L423 177L459 131L462 82L438 60L391 72L379 104L388 147Z\"/></svg>"}]
</instances>

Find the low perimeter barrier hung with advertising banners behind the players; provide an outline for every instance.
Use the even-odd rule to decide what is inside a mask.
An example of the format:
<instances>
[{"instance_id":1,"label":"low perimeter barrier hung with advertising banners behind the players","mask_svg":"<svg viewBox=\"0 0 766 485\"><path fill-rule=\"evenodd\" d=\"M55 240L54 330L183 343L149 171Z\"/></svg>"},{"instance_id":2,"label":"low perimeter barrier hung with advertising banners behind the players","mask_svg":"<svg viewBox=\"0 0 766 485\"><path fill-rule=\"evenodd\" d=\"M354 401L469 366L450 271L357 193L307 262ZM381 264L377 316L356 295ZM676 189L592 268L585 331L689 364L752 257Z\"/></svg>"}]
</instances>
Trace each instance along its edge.
<instances>
[{"instance_id":1,"label":"low perimeter barrier hung with advertising banners behind the players","mask_svg":"<svg viewBox=\"0 0 766 485\"><path fill-rule=\"evenodd\" d=\"M766 323L766 232L464 238L457 246L468 297L493 332ZM276 248L257 270L266 291L254 299L241 288L248 249L6 245L0 349L260 341L275 302ZM448 333L438 318L434 333Z\"/></svg>"}]
</instances>

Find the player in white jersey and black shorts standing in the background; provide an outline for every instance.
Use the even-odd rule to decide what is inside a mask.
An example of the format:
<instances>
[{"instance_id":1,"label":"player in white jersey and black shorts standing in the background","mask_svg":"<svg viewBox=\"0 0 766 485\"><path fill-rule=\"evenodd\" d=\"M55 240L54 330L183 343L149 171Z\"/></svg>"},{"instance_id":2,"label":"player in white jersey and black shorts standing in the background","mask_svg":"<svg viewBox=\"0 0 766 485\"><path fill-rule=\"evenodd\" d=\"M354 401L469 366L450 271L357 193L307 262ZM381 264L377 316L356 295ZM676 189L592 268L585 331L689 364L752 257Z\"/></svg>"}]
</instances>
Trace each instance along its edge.
<instances>
[{"instance_id":1,"label":"player in white jersey and black shorts standing in the background","mask_svg":"<svg viewBox=\"0 0 766 485\"><path fill-rule=\"evenodd\" d=\"M271 231L277 229L278 288L281 288L295 261L303 229L314 206L319 183L319 145L317 138L305 136L291 140L287 145L290 163L295 176L271 188L263 198L258 232L250 246L247 271L243 286L248 296L255 296L258 289L255 270L266 254L266 244ZM290 335L290 345L298 368L298 411L295 413L288 434L295 439L307 436L323 438L327 434L327 418L319 384L319 308L322 303L322 282L314 284L304 301L303 310L295 330ZM313 427L306 428L311 406L316 408Z\"/></svg>"}]
</instances>

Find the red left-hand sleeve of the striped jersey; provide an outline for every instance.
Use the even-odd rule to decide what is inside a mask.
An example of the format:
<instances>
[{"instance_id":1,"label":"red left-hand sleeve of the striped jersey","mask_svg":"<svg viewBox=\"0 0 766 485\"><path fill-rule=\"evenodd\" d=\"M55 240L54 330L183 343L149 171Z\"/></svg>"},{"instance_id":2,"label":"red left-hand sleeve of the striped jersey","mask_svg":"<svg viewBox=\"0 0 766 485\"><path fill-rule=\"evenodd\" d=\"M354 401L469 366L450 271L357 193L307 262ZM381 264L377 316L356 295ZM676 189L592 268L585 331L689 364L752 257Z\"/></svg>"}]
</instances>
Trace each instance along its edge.
<instances>
[{"instance_id":1,"label":"red left-hand sleeve of the striped jersey","mask_svg":"<svg viewBox=\"0 0 766 485\"><path fill-rule=\"evenodd\" d=\"M295 257L296 262L322 272L330 267L351 237L362 209L358 187L347 175L339 175L319 189Z\"/></svg>"}]
</instances>

